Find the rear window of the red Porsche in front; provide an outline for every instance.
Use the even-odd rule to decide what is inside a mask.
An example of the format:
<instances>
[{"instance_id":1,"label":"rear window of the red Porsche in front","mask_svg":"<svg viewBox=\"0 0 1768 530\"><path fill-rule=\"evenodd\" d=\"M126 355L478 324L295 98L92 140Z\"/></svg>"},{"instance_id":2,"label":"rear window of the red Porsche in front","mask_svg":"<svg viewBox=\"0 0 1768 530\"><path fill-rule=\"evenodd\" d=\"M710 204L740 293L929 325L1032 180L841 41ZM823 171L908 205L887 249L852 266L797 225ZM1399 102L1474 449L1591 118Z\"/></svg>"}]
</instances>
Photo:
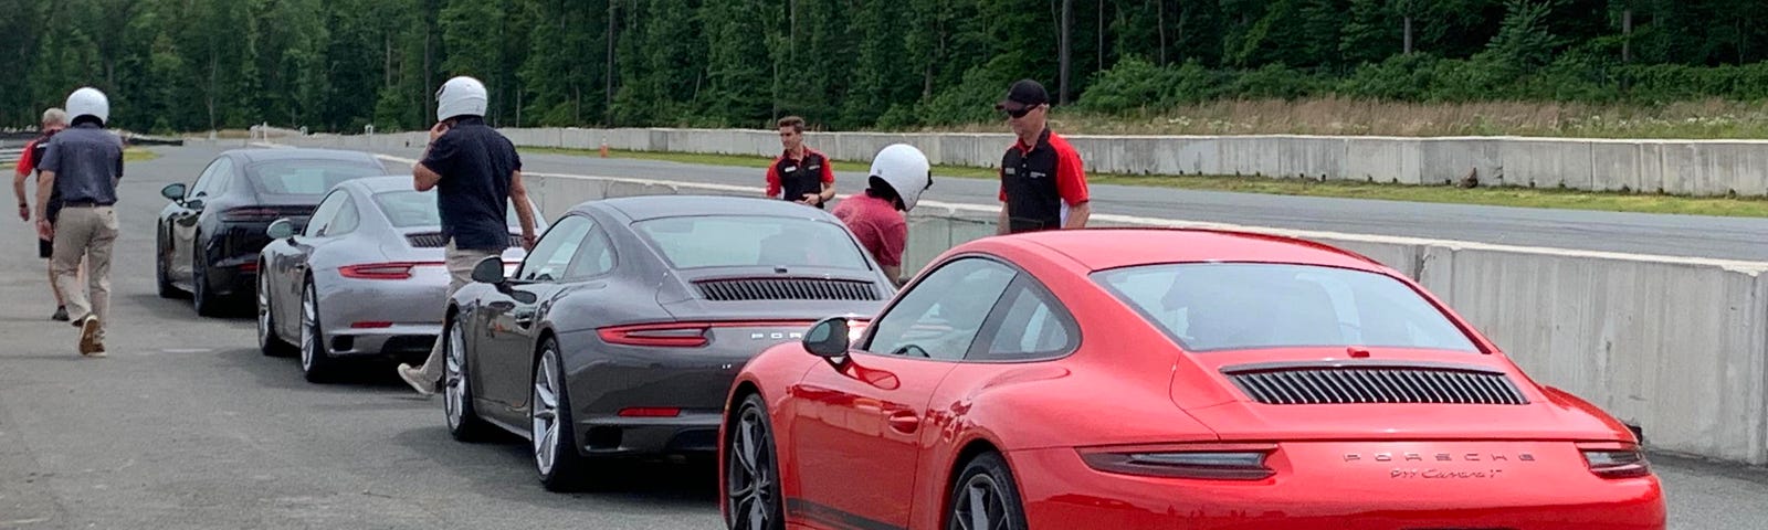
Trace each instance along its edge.
<instances>
[{"instance_id":1,"label":"rear window of the red Porsche in front","mask_svg":"<svg viewBox=\"0 0 1768 530\"><path fill-rule=\"evenodd\" d=\"M1478 352L1411 286L1363 270L1177 263L1101 270L1093 279L1192 352L1285 346Z\"/></svg>"}]
</instances>

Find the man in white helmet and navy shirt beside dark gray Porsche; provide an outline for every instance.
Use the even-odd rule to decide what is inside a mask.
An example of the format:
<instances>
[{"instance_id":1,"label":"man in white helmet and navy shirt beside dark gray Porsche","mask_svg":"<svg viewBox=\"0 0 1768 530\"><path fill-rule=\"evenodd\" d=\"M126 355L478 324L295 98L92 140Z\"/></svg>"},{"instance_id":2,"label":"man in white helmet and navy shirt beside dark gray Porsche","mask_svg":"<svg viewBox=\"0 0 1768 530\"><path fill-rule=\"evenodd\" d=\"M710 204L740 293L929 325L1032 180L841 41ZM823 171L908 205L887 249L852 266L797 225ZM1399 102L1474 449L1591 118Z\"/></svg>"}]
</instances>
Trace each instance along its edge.
<instances>
[{"instance_id":1,"label":"man in white helmet and navy shirt beside dark gray Porsche","mask_svg":"<svg viewBox=\"0 0 1768 530\"><path fill-rule=\"evenodd\" d=\"M412 166L417 191L437 189L442 212L442 237L447 240L447 295L472 281L472 267L509 247L507 205L514 203L522 221L522 247L534 249L534 212L522 186L522 157L516 145L484 124L488 97L484 83L460 76L437 90L437 124L430 127L430 147ZM442 380L442 344L437 337L423 367L400 364L400 378L419 394L435 394Z\"/></svg>"}]
</instances>

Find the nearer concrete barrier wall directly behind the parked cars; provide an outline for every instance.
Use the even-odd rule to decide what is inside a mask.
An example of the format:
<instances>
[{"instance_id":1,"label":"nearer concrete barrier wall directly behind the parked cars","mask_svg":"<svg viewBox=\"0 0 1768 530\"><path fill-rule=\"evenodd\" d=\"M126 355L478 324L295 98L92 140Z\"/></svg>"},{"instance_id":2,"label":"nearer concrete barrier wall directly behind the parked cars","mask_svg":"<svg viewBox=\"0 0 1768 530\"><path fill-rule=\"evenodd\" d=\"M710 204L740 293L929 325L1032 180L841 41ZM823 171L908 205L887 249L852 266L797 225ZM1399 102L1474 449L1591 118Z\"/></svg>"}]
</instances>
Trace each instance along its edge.
<instances>
[{"instance_id":1,"label":"nearer concrete barrier wall directly behind the parked cars","mask_svg":"<svg viewBox=\"0 0 1768 530\"><path fill-rule=\"evenodd\" d=\"M612 196L748 194L698 184L530 178L548 219ZM1100 226L1137 226L1101 217ZM1768 465L1768 263L1262 231L1338 246L1418 279L1533 378L1639 426L1657 450ZM909 219L903 269L919 270L988 235L987 208L925 203Z\"/></svg>"}]
</instances>

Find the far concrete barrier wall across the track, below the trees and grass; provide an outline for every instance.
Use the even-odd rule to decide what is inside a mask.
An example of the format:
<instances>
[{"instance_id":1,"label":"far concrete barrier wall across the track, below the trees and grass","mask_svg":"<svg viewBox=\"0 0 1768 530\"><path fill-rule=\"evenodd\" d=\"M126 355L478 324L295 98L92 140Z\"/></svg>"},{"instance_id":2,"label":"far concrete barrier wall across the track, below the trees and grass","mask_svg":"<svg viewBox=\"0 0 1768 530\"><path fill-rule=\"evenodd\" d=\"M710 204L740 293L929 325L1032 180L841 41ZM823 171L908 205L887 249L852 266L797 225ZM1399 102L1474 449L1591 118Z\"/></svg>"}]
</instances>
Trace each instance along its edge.
<instances>
[{"instance_id":1,"label":"far concrete barrier wall across the track, below the trees and grass","mask_svg":"<svg viewBox=\"0 0 1768 530\"><path fill-rule=\"evenodd\" d=\"M502 129L522 147L778 155L774 131L748 129ZM1694 196L1768 196L1768 141L1384 136L1068 136L1089 171L1126 175L1262 175L1273 178L1646 191ZM419 147L426 132L278 138L299 147ZM1006 132L812 132L810 145L838 161L868 163L891 143L911 143L935 163L995 168ZM202 141L198 141L202 143ZM216 145L244 143L240 140Z\"/></svg>"}]
</instances>

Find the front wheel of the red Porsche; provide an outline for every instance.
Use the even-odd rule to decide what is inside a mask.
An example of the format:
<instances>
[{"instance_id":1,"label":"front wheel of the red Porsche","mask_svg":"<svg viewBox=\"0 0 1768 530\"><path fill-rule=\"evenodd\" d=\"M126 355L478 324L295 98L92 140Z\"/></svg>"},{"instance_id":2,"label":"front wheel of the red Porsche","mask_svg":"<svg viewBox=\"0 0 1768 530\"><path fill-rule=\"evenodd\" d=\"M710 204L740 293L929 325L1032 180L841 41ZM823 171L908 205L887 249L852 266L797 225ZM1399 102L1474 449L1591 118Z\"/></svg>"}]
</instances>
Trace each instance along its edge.
<instances>
[{"instance_id":1,"label":"front wheel of the red Porsche","mask_svg":"<svg viewBox=\"0 0 1768 530\"><path fill-rule=\"evenodd\" d=\"M732 530L783 530L785 504L780 498L780 465L773 442L773 422L762 396L743 398L737 417L725 435L725 500L730 511L725 526Z\"/></svg>"}]
</instances>

